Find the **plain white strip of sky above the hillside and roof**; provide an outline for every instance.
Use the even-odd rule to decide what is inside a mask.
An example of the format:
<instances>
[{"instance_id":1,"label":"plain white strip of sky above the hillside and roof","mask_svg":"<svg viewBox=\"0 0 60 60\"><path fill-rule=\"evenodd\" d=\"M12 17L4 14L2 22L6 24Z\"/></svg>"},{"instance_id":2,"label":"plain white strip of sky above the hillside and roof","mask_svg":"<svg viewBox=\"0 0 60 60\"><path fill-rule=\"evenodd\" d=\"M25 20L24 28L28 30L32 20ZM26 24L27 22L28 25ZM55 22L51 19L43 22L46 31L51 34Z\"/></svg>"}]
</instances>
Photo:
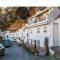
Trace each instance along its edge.
<instances>
[{"instance_id":1,"label":"plain white strip of sky above the hillside and roof","mask_svg":"<svg viewBox=\"0 0 60 60\"><path fill-rule=\"evenodd\" d=\"M0 7L60 6L60 0L0 0Z\"/></svg>"}]
</instances>

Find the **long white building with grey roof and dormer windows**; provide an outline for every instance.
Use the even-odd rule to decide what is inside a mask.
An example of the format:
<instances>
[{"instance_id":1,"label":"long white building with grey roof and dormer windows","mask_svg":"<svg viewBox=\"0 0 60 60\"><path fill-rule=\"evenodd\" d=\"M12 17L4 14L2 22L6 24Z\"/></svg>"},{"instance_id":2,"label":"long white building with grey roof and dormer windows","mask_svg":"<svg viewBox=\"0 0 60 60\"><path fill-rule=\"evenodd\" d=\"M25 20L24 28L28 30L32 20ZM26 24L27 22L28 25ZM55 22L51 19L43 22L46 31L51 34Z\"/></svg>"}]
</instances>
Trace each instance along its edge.
<instances>
[{"instance_id":1,"label":"long white building with grey roof and dormer windows","mask_svg":"<svg viewBox=\"0 0 60 60\"><path fill-rule=\"evenodd\" d=\"M26 26L21 29L21 37L24 42L33 43L44 47L44 39L48 37L49 47L60 46L60 9L46 8L42 12L30 17Z\"/></svg>"}]
</instances>

